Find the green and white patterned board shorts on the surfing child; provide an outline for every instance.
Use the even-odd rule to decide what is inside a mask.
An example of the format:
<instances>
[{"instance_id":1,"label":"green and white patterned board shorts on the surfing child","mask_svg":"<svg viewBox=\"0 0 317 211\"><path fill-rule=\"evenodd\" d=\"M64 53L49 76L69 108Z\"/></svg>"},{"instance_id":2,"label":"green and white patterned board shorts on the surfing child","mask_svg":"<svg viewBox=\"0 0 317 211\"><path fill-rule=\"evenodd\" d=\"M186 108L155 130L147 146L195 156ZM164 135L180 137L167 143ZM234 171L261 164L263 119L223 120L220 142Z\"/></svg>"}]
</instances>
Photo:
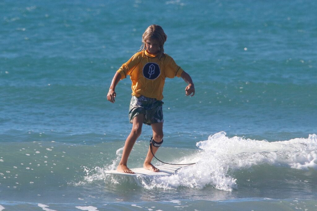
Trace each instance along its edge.
<instances>
[{"instance_id":1,"label":"green and white patterned board shorts on the surfing child","mask_svg":"<svg viewBox=\"0 0 317 211\"><path fill-rule=\"evenodd\" d=\"M129 120L133 123L133 118L138 114L144 114L143 123L151 125L153 123L164 122L163 101L155 98L132 96L129 106Z\"/></svg>"}]
</instances>

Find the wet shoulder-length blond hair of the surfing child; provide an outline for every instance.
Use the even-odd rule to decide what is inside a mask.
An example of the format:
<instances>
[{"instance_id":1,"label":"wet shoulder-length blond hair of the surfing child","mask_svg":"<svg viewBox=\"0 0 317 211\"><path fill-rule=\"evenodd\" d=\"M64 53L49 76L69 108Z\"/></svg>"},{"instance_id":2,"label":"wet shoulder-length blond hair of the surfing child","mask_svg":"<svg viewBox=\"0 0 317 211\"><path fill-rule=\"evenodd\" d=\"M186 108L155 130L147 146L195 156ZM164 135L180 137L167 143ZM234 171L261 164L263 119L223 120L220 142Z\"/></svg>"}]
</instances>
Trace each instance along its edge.
<instances>
[{"instance_id":1,"label":"wet shoulder-length blond hair of the surfing child","mask_svg":"<svg viewBox=\"0 0 317 211\"><path fill-rule=\"evenodd\" d=\"M164 43L167 39L164 30L159 25L151 25L147 27L144 34L142 35L142 45L140 50L146 50L146 40L151 38L151 40L159 46L159 59L164 56Z\"/></svg>"}]
</instances>

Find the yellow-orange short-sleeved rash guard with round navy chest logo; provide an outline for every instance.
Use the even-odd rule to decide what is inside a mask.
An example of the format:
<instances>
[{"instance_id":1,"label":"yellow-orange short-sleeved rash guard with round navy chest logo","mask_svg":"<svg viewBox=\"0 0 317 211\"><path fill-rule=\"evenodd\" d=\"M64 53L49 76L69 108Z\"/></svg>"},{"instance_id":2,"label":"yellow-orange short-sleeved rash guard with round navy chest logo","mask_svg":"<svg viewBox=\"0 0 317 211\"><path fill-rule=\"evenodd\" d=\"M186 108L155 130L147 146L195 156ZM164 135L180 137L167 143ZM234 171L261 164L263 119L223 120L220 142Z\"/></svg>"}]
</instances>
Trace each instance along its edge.
<instances>
[{"instance_id":1,"label":"yellow-orange short-sleeved rash guard with round navy chest logo","mask_svg":"<svg viewBox=\"0 0 317 211\"><path fill-rule=\"evenodd\" d=\"M167 54L159 59L144 50L134 54L117 72L121 80L130 75L133 96L162 100L165 78L180 77L183 69Z\"/></svg>"}]
</instances>

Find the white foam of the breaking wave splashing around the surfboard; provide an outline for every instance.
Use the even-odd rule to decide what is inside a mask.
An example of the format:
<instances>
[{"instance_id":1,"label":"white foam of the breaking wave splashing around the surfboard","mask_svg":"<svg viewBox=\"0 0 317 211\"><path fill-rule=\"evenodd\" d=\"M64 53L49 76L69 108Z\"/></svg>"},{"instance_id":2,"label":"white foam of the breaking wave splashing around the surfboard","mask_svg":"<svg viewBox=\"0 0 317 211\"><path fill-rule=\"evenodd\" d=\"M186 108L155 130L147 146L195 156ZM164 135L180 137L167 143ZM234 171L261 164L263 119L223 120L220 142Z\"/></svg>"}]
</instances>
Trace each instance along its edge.
<instances>
[{"instance_id":1,"label":"white foam of the breaking wave splashing around the surfboard","mask_svg":"<svg viewBox=\"0 0 317 211\"><path fill-rule=\"evenodd\" d=\"M227 137L225 132L219 132L196 145L199 150L193 155L186 156L181 162L197 162L197 164L183 167L171 176L154 177L150 180L139 177L139 184L146 189L175 189L180 186L203 189L207 185L212 185L219 190L232 191L237 188L237 184L231 172L239 169L269 164L301 170L317 170L315 134L309 135L308 138L268 142L243 137ZM117 151L118 157L121 150L122 148ZM115 166L117 160L113 162L111 168ZM94 171L97 173L87 175L86 180L91 182L107 178L103 172L108 168L96 167ZM120 183L113 178L111 182Z\"/></svg>"}]
</instances>

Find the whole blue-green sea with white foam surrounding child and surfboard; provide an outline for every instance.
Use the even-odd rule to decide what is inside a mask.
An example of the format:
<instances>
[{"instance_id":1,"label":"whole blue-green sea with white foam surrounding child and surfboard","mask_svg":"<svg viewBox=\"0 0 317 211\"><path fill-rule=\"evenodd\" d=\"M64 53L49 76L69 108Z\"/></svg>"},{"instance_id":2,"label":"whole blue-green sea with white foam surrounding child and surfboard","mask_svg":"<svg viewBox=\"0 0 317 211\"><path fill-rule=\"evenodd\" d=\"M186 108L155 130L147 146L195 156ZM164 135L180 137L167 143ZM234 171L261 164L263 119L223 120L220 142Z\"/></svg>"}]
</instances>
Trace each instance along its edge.
<instances>
[{"instance_id":1,"label":"whole blue-green sea with white foam surrounding child and surfboard","mask_svg":"<svg viewBox=\"0 0 317 211\"><path fill-rule=\"evenodd\" d=\"M0 210L316 210L314 1L0 1ZM162 178L104 173L131 130L115 71L159 24L182 79L164 88ZM129 157L142 166L144 125ZM154 161L155 165L160 162Z\"/></svg>"}]
</instances>

